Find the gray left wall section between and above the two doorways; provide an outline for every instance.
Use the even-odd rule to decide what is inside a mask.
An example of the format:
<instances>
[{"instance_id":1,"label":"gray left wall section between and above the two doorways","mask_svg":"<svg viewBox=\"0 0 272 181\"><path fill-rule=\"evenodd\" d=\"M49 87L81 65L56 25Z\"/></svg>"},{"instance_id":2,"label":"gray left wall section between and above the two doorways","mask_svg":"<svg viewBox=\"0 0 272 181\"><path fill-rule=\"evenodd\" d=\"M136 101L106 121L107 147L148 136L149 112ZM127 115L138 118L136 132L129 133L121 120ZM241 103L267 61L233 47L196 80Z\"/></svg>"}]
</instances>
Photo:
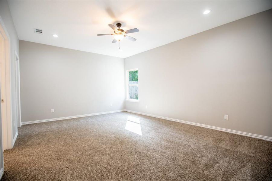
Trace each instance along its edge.
<instances>
[{"instance_id":1,"label":"gray left wall section between and above the two doorways","mask_svg":"<svg viewBox=\"0 0 272 181\"><path fill-rule=\"evenodd\" d=\"M15 107L15 50L17 54L20 56L19 53L19 39L17 36L17 32L15 30L15 26L13 24L13 20L11 17L11 13L9 11L8 2L6 0L0 1L0 16L2 20L4 21L5 27L7 28L9 37L10 37L10 58L11 58L11 106L12 106L12 134L13 138L18 131L17 125L18 120L16 117L16 107Z\"/></svg>"}]
</instances>

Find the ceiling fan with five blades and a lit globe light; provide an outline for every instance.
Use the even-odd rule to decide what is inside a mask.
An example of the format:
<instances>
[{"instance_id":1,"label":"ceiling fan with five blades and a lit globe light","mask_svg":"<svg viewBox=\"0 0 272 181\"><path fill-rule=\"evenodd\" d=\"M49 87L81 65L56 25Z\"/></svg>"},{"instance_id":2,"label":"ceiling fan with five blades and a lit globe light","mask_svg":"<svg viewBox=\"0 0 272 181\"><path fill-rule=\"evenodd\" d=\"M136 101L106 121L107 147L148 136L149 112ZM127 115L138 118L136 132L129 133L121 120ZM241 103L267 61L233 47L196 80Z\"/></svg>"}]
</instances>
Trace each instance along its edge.
<instances>
[{"instance_id":1,"label":"ceiling fan with five blades and a lit globe light","mask_svg":"<svg viewBox=\"0 0 272 181\"><path fill-rule=\"evenodd\" d=\"M126 34L138 32L139 31L138 28L133 28L133 29L124 31L124 30L120 29L120 27L122 26L121 23L116 24L116 26L118 28L116 28L113 24L108 24L108 25L109 25L109 27L111 27L114 30L114 34L98 34L97 36L114 35L114 39L112 40L111 43L116 43L117 41L120 42L124 38L126 38L126 39L128 39L130 41L136 41L136 38L127 36Z\"/></svg>"}]
</instances>

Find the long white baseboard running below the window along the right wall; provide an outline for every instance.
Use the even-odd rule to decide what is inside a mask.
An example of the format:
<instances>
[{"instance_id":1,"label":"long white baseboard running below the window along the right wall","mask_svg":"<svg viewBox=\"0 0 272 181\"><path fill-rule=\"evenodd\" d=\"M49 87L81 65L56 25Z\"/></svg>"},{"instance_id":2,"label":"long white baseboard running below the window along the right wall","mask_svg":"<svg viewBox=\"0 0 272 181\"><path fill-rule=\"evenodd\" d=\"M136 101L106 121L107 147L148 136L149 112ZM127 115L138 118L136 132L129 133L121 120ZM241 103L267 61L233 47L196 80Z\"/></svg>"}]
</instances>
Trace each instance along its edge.
<instances>
[{"instance_id":1,"label":"long white baseboard running below the window along the right wall","mask_svg":"<svg viewBox=\"0 0 272 181\"><path fill-rule=\"evenodd\" d=\"M136 113L136 114L142 114L142 115L151 116L151 117L155 117L155 118L160 118L160 119L166 119L166 120L169 120L169 121L181 122L181 123L200 126L200 127L204 127L204 128L215 129L215 130L219 130L219 131L223 131L223 132L229 132L229 133L233 133L233 134L237 134L237 135L249 136L249 137L252 137L252 138L259 138L259 139L263 139L263 140L267 140L267 141L272 141L272 137L269 137L269 136L256 135L256 134L252 134L252 133L235 131L235 130L232 130L232 129L225 129L225 128L220 128L220 127L210 126L210 125L204 125L204 124L199 124L199 123L190 122L190 121L183 121L183 120L180 120L180 119L173 119L173 118L168 118L168 117L163 117L163 116L156 116L156 115L152 115L152 114L141 113L141 112L136 112L136 111L131 111L131 110L125 110L125 111L130 112L130 113Z\"/></svg>"}]
</instances>

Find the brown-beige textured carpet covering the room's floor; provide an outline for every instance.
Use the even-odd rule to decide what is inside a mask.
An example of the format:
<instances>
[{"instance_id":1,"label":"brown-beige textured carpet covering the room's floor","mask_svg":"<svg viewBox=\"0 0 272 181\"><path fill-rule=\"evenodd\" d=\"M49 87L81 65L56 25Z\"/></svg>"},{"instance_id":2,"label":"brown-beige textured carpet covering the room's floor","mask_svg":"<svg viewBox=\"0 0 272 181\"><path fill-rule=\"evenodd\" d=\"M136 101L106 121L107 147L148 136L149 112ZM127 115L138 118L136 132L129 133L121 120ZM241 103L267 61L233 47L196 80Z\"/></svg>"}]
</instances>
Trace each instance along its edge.
<instances>
[{"instance_id":1,"label":"brown-beige textured carpet covering the room's floor","mask_svg":"<svg viewBox=\"0 0 272 181\"><path fill-rule=\"evenodd\" d=\"M272 179L272 142L128 112L24 125L4 159L2 180Z\"/></svg>"}]
</instances>

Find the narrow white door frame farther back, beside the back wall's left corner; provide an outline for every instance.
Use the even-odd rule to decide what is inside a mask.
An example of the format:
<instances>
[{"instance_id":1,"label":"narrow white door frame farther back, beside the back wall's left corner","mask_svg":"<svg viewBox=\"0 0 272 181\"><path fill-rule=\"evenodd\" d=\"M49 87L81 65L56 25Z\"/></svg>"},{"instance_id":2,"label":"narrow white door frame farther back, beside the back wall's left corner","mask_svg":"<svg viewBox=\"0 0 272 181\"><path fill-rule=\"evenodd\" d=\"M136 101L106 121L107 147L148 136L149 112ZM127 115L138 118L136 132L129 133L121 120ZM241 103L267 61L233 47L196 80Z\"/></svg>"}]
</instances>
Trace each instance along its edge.
<instances>
[{"instance_id":1,"label":"narrow white door frame farther back, beside the back wall's left corner","mask_svg":"<svg viewBox=\"0 0 272 181\"><path fill-rule=\"evenodd\" d=\"M18 127L21 127L21 95L20 95L20 59L15 50L15 92L16 92L16 117Z\"/></svg>"}]
</instances>

